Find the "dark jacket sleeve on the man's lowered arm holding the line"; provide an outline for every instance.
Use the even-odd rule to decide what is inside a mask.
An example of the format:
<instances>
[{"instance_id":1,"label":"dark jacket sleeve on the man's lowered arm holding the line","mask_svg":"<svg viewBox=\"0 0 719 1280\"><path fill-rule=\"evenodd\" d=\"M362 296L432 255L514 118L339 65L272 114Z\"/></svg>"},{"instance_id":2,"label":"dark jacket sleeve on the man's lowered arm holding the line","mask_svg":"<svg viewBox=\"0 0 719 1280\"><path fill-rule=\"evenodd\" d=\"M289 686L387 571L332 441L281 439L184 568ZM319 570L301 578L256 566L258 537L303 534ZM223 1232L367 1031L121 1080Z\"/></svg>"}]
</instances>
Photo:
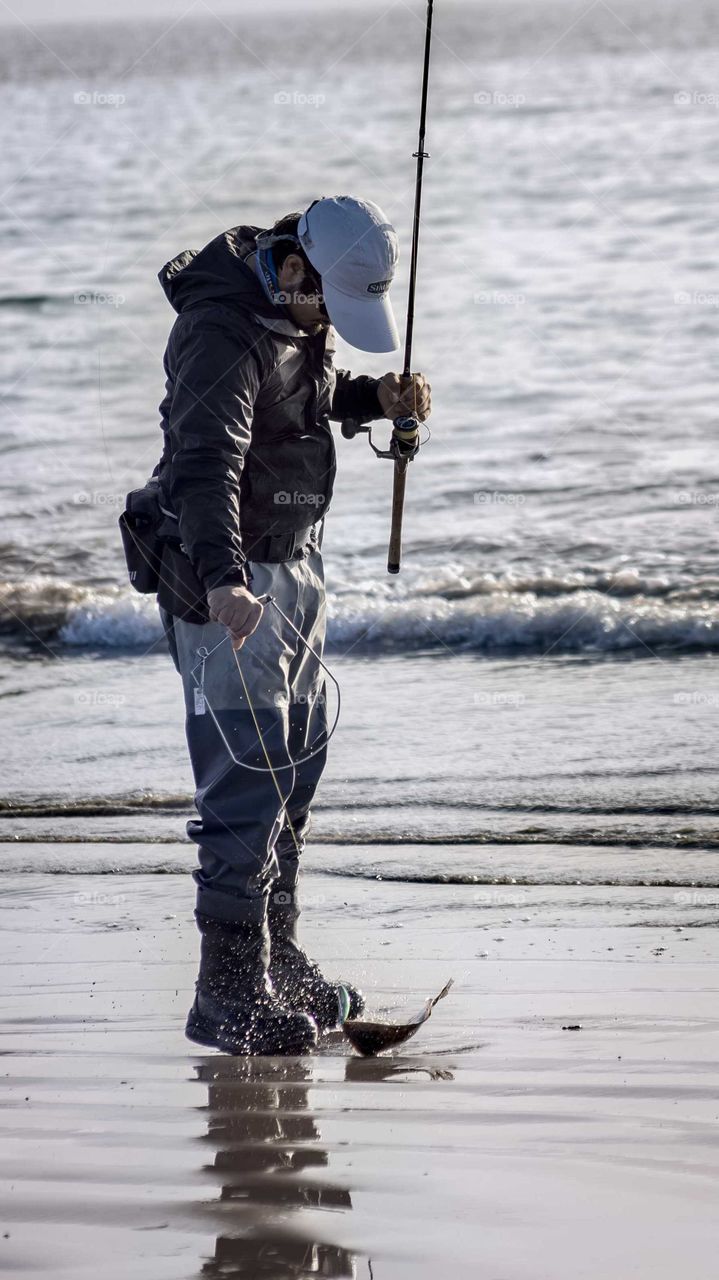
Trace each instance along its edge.
<instances>
[{"instance_id":1,"label":"dark jacket sleeve on the man's lowered arm holding the line","mask_svg":"<svg viewBox=\"0 0 719 1280\"><path fill-rule=\"evenodd\" d=\"M242 337L197 316L182 317L170 342L169 498L184 549L210 591L244 581L239 479L260 365Z\"/></svg>"}]
</instances>

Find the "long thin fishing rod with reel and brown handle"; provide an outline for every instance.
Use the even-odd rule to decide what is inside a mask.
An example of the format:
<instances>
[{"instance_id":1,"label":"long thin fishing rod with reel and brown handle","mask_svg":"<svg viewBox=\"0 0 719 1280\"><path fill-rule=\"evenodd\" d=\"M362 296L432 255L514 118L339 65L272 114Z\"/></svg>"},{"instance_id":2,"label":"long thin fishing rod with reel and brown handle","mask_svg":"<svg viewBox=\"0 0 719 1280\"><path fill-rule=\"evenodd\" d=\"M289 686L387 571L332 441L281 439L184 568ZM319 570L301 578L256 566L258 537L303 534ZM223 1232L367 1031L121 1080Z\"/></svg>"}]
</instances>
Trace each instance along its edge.
<instances>
[{"instance_id":1,"label":"long thin fishing rod with reel and brown handle","mask_svg":"<svg viewBox=\"0 0 719 1280\"><path fill-rule=\"evenodd\" d=\"M427 17L425 24L425 61L422 69L422 99L420 105L420 136L417 150L412 152L417 160L417 175L415 179L415 214L412 218L412 253L409 259L409 292L407 297L407 330L404 337L404 369L402 380L407 385L412 376L412 335L415 332L415 294L417 287L417 256L420 251L420 211L422 207L422 174L429 151L425 151L425 131L427 120L427 90L430 83L430 49L432 41L432 10L434 0L427 0ZM345 419L342 424L342 434L352 440L358 431L366 431L370 438L370 447L377 458L391 458L394 462L394 481L391 490L391 526L389 535L389 549L386 571L399 573L402 561L402 518L404 515L404 489L407 485L407 467L420 449L420 422L412 413L395 417L391 425L391 439L389 449L379 449L372 440L372 429L361 425L352 419Z\"/></svg>"}]
</instances>

